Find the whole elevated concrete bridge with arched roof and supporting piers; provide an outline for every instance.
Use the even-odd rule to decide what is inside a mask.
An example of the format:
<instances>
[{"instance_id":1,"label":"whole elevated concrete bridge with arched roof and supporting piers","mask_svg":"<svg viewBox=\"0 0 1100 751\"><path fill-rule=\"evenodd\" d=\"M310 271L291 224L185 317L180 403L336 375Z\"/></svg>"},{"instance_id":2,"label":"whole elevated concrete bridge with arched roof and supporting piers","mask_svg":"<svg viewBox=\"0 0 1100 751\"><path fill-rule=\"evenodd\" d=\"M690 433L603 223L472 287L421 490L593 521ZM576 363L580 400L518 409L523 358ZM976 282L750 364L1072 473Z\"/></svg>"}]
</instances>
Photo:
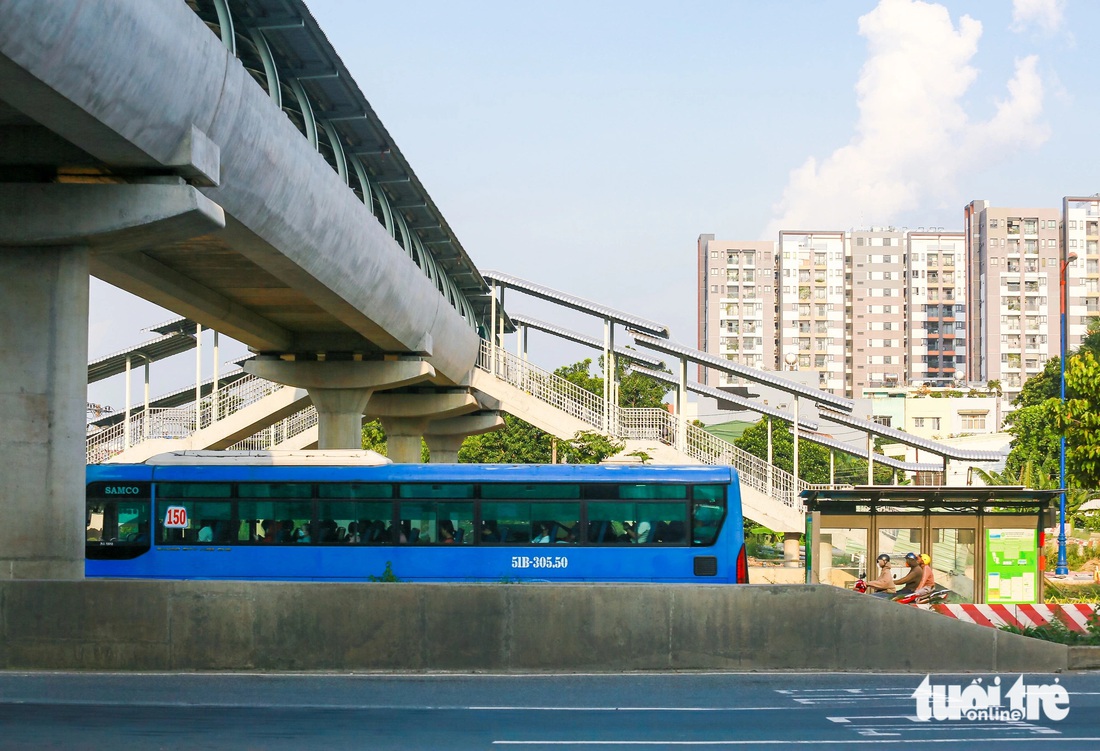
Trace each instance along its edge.
<instances>
[{"instance_id":1,"label":"whole elevated concrete bridge with arched roof and supporting piers","mask_svg":"<svg viewBox=\"0 0 1100 751\"><path fill-rule=\"evenodd\" d=\"M487 286L305 4L195 8L0 0L0 579L82 576L89 273L283 363L322 448L469 383Z\"/></svg>"}]
</instances>

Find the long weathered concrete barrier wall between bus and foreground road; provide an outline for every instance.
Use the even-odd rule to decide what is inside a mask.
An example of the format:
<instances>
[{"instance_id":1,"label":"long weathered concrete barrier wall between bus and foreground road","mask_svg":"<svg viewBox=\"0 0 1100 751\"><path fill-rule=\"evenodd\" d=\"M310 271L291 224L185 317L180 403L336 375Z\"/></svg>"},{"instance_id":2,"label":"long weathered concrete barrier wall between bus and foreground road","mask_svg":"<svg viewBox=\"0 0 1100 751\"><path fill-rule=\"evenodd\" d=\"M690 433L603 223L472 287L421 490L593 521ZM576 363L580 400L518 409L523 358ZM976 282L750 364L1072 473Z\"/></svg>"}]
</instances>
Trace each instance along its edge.
<instances>
[{"instance_id":1,"label":"long weathered concrete barrier wall between bus and foreground road","mask_svg":"<svg viewBox=\"0 0 1100 751\"><path fill-rule=\"evenodd\" d=\"M0 582L0 667L1047 672L1068 649L827 586Z\"/></svg>"}]
</instances>

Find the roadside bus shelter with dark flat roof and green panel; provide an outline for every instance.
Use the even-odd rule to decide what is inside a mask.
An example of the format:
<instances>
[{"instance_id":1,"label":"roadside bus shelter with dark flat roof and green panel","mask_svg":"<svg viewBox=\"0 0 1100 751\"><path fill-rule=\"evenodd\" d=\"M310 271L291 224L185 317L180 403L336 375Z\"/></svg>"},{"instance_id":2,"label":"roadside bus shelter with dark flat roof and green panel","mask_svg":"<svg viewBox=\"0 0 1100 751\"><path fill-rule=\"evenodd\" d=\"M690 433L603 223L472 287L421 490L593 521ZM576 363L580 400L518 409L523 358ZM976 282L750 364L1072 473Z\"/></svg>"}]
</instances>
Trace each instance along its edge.
<instances>
[{"instance_id":1,"label":"roadside bus shelter with dark flat roof and green panel","mask_svg":"<svg viewBox=\"0 0 1100 751\"><path fill-rule=\"evenodd\" d=\"M953 603L1040 603L1043 529L1059 493L916 485L803 490L807 581L850 588L860 573L876 575L880 553L900 578L905 553L926 553L936 584L955 593Z\"/></svg>"}]
</instances>

